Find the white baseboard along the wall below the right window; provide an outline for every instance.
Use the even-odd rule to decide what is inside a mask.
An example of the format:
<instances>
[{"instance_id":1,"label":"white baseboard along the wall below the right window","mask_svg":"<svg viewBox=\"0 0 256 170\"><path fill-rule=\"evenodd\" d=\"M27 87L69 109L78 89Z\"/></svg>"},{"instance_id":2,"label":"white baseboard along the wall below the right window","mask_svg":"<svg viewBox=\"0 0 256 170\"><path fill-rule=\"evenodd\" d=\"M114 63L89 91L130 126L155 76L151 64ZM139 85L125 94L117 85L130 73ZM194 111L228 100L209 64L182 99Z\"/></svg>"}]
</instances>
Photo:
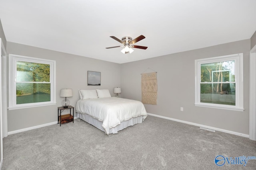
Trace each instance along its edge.
<instances>
[{"instance_id":1,"label":"white baseboard along the wall below the right window","mask_svg":"<svg viewBox=\"0 0 256 170\"><path fill-rule=\"evenodd\" d=\"M183 121L183 120L179 120L179 119L173 119L173 118L170 118L170 117L155 115L155 114L152 114L152 113L148 113L148 115L155 116L155 117L160 117L160 118L168 119L168 120L172 120L172 121L178 121L178 122L181 122L181 123L186 123L186 124L194 125L194 126L198 126L198 127L204 127L204 128L207 128L207 129L213 129L213 130L215 130L215 131L220 131L220 132L224 132L224 133L230 133L230 134L232 134L232 135L238 135L238 136L242 136L242 137L247 137L247 138L249 138L249 135L246 135L246 134L244 134L244 133L238 133L238 132L234 132L234 131L228 131L228 130L225 130L225 129L219 129L219 128L216 128L216 127L210 127L210 126L201 125L201 124L198 124L198 123L192 123L192 122L189 122L189 121Z\"/></svg>"}]
</instances>

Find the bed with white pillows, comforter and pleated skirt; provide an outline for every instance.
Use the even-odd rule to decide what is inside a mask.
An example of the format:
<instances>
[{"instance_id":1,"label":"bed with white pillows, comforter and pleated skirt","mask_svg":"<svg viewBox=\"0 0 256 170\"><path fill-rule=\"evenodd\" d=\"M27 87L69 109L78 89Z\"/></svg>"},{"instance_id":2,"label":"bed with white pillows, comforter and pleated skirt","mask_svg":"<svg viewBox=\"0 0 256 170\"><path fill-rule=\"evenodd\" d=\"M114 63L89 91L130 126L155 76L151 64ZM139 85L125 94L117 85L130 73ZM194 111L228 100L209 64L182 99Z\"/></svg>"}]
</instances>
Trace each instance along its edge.
<instances>
[{"instance_id":1,"label":"bed with white pillows, comforter and pleated skirt","mask_svg":"<svg viewBox=\"0 0 256 170\"><path fill-rule=\"evenodd\" d=\"M77 117L106 134L142 123L147 112L140 101L111 97L109 90L79 90Z\"/></svg>"}]
</instances>

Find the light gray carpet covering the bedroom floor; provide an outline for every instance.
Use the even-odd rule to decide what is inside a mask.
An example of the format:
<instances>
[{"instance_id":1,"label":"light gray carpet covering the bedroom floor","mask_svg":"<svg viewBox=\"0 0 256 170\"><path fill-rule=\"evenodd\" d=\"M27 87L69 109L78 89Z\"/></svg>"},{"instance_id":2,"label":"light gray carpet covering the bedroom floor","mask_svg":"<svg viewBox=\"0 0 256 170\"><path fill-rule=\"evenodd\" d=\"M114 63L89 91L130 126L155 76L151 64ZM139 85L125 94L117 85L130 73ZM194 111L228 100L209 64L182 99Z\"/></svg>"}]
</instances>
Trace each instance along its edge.
<instances>
[{"instance_id":1,"label":"light gray carpet covering the bedroom floor","mask_svg":"<svg viewBox=\"0 0 256 170\"><path fill-rule=\"evenodd\" d=\"M256 169L256 160L214 163L218 155L256 156L256 141L153 116L110 135L76 119L8 135L3 147L2 170Z\"/></svg>"}]
</instances>

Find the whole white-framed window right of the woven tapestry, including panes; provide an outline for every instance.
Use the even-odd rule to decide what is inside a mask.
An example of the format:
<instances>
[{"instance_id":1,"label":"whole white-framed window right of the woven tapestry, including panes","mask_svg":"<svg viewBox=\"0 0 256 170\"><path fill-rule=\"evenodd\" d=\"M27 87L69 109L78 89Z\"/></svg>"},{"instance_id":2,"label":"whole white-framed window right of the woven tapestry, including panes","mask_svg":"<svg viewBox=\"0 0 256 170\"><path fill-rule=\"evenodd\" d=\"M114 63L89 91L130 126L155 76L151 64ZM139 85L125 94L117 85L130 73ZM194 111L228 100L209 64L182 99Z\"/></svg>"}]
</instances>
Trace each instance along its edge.
<instances>
[{"instance_id":1,"label":"whole white-framed window right of the woven tapestry, including panes","mask_svg":"<svg viewBox=\"0 0 256 170\"><path fill-rule=\"evenodd\" d=\"M195 105L244 110L242 53L195 61Z\"/></svg>"}]
</instances>

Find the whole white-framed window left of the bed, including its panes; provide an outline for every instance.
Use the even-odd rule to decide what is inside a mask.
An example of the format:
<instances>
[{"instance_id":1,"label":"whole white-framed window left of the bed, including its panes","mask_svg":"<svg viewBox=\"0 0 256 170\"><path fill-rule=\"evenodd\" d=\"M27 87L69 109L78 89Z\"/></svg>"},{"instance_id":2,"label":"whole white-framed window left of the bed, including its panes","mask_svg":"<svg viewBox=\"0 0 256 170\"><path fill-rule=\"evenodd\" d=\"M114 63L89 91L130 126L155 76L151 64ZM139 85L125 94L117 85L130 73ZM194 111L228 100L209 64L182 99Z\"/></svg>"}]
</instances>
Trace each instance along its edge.
<instances>
[{"instance_id":1,"label":"whole white-framed window left of the bed, including its panes","mask_svg":"<svg viewBox=\"0 0 256 170\"><path fill-rule=\"evenodd\" d=\"M9 54L9 110L56 104L55 61Z\"/></svg>"}]
</instances>

